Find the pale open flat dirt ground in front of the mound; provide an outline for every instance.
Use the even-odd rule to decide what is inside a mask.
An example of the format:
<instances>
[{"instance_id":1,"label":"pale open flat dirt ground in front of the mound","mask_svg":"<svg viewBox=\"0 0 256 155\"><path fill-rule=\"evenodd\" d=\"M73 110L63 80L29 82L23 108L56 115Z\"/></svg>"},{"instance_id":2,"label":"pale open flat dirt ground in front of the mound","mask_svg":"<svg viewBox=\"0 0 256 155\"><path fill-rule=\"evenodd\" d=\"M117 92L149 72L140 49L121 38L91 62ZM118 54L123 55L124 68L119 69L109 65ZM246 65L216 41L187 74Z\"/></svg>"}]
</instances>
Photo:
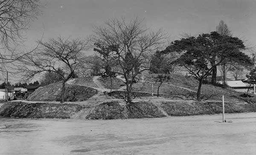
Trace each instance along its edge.
<instances>
[{"instance_id":1,"label":"pale open flat dirt ground in front of the mound","mask_svg":"<svg viewBox=\"0 0 256 155\"><path fill-rule=\"evenodd\" d=\"M0 155L255 155L256 113L125 120L0 118Z\"/></svg>"}]
</instances>

